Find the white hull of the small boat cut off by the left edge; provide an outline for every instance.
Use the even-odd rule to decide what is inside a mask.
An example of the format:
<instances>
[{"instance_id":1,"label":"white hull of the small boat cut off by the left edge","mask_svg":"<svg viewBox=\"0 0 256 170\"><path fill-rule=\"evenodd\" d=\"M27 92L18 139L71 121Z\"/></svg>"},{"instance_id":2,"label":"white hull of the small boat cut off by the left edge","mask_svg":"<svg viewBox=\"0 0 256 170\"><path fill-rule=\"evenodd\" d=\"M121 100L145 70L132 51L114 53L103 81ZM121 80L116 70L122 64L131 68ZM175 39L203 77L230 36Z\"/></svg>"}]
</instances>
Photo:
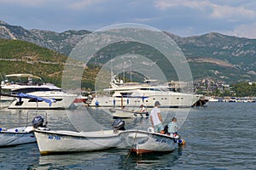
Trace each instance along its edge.
<instances>
[{"instance_id":1,"label":"white hull of the small boat cut off by the left edge","mask_svg":"<svg viewBox=\"0 0 256 170\"><path fill-rule=\"evenodd\" d=\"M16 144L29 144L36 142L34 133L26 132L26 127L17 127L0 131L0 146L10 146Z\"/></svg>"}]
</instances>

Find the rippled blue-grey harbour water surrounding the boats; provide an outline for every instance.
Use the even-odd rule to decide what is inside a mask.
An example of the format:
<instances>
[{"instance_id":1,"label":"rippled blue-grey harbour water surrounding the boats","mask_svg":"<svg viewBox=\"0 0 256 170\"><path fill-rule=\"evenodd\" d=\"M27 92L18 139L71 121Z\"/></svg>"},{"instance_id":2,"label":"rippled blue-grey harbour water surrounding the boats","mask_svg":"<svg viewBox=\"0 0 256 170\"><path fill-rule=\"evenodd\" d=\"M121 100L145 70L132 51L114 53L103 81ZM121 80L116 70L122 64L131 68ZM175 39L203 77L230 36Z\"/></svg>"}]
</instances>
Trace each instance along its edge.
<instances>
[{"instance_id":1,"label":"rippled blue-grey harbour water surrounding the boats","mask_svg":"<svg viewBox=\"0 0 256 170\"><path fill-rule=\"evenodd\" d=\"M164 109L161 111L165 114ZM2 109L0 125L25 125L26 112ZM74 130L65 111L47 113L51 129ZM111 127L113 119L108 113L100 110L91 113L97 122ZM29 116L28 123L33 116ZM172 116L167 115L165 122ZM129 150L112 149L40 156L36 143L21 144L0 148L0 169L256 169L255 120L256 103L209 103L207 107L190 109L179 130L187 143L171 153L131 154L127 158ZM149 125L147 119L125 120L125 123L126 127Z\"/></svg>"}]
</instances>

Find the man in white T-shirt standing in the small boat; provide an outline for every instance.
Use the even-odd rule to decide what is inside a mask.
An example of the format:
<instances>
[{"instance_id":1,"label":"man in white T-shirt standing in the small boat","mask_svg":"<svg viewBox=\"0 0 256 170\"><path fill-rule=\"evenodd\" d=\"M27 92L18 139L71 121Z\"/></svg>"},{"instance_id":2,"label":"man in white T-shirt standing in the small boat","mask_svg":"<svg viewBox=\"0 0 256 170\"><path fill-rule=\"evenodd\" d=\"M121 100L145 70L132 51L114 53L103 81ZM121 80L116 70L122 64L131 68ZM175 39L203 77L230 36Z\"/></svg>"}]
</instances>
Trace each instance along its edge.
<instances>
[{"instance_id":1,"label":"man in white T-shirt standing in the small boat","mask_svg":"<svg viewBox=\"0 0 256 170\"><path fill-rule=\"evenodd\" d=\"M155 133L164 133L163 119L160 114L160 102L154 102L154 109L150 112L150 121Z\"/></svg>"}]
</instances>

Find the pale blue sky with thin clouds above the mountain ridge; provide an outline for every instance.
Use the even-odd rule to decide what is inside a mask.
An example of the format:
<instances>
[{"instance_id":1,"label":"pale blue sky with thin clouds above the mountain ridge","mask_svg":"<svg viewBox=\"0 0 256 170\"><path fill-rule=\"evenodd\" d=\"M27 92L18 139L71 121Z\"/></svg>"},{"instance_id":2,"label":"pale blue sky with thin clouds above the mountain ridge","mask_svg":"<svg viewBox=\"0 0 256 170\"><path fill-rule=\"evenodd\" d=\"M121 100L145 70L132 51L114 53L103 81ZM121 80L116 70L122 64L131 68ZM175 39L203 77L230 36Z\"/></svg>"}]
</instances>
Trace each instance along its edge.
<instances>
[{"instance_id":1,"label":"pale blue sky with thin clouds above the mountain ridge","mask_svg":"<svg viewBox=\"0 0 256 170\"><path fill-rule=\"evenodd\" d=\"M180 37L256 38L254 0L0 0L0 20L27 30L89 30L137 23Z\"/></svg>"}]
</instances>

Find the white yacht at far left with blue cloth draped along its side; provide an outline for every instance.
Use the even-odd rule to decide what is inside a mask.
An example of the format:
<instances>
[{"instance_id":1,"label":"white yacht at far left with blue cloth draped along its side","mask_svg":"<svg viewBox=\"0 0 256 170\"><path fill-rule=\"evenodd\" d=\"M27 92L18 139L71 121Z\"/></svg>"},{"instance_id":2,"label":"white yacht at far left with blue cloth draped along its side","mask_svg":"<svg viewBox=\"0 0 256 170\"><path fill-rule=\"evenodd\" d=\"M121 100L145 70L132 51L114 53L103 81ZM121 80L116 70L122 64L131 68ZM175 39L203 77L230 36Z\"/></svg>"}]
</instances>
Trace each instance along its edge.
<instances>
[{"instance_id":1,"label":"white yacht at far left with blue cloth draped along its side","mask_svg":"<svg viewBox=\"0 0 256 170\"><path fill-rule=\"evenodd\" d=\"M30 94L46 99L53 99L52 105L35 99L17 98L9 109L66 109L77 97L76 94L67 94L54 84L44 83L40 77L32 74L10 74L1 82L1 88L9 94Z\"/></svg>"}]
</instances>

